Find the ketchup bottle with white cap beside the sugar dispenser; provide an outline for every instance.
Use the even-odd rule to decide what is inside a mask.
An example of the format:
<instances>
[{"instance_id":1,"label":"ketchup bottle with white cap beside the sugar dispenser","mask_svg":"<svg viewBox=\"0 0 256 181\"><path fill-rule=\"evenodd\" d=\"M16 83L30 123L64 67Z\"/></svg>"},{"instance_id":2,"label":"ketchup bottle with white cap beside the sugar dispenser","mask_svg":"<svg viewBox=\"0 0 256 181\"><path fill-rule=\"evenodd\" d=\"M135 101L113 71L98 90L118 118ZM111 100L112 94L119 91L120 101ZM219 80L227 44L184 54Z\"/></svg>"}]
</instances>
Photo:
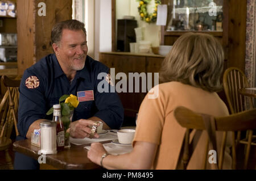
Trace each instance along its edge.
<instances>
[{"instance_id":1,"label":"ketchup bottle with white cap beside the sugar dispenser","mask_svg":"<svg viewBox=\"0 0 256 181\"><path fill-rule=\"evenodd\" d=\"M57 138L57 151L64 150L64 126L60 119L61 111L60 104L53 105L53 118L52 121L56 122L56 138Z\"/></svg>"}]
</instances>

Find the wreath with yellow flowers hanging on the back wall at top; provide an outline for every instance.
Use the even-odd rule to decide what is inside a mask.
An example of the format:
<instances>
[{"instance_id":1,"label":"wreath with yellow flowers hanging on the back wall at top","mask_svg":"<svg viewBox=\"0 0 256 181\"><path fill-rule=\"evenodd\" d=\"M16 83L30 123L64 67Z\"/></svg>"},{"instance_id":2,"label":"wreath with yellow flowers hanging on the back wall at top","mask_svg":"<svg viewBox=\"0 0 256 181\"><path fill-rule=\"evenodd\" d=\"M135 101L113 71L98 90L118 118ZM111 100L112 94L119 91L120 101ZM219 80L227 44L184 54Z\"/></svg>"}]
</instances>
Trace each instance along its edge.
<instances>
[{"instance_id":1,"label":"wreath with yellow flowers hanging on the back wall at top","mask_svg":"<svg viewBox=\"0 0 256 181\"><path fill-rule=\"evenodd\" d=\"M155 0L155 9L154 12L149 14L147 12L147 5L151 0L137 0L139 1L139 15L141 16L141 20L144 20L147 23L156 22L156 16L158 14L158 5L161 4L160 0Z\"/></svg>"}]
</instances>

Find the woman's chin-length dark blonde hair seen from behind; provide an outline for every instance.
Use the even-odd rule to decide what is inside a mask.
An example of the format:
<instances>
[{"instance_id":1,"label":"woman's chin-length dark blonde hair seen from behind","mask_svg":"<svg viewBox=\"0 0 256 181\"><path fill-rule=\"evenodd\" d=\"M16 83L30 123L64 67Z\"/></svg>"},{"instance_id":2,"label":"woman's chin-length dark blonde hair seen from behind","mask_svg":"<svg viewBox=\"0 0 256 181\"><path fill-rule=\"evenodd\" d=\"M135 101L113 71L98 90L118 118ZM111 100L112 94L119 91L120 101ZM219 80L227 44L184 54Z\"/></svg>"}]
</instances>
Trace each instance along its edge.
<instances>
[{"instance_id":1,"label":"woman's chin-length dark blonde hair seen from behind","mask_svg":"<svg viewBox=\"0 0 256 181\"><path fill-rule=\"evenodd\" d=\"M209 92L222 89L224 52L220 42L204 33L185 33L174 43L160 70L163 82L178 81Z\"/></svg>"}]
</instances>

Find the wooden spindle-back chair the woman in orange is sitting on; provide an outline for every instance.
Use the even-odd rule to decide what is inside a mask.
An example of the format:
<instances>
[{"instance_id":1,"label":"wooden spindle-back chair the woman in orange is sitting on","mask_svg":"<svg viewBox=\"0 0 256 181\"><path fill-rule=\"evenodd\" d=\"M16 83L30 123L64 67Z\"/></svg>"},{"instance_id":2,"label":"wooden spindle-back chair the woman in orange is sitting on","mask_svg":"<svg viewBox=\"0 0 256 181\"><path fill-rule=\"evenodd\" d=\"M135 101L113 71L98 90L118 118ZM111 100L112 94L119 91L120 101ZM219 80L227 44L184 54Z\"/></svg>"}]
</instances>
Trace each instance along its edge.
<instances>
[{"instance_id":1,"label":"wooden spindle-back chair the woman in orange is sitting on","mask_svg":"<svg viewBox=\"0 0 256 181\"><path fill-rule=\"evenodd\" d=\"M191 129L197 130L207 130L208 132L208 143L207 148L205 149L204 154L204 169L207 163L208 151L216 150L216 131L222 132L237 132L237 131L249 131L249 139L246 146L246 154L244 159L243 168L247 169L248 159L250 154L251 145L256 145L256 142L252 142L253 130L256 129L256 109L243 111L240 113L236 113L230 116L225 117L213 117L210 115L205 115L201 113L195 113L188 108L185 107L177 107L174 110L174 116L177 122L181 125L181 127L187 128L185 138L184 138L184 151L181 154L181 165L183 169L187 169L187 164L189 159L191 158L192 153L190 153L191 145L189 144L189 133ZM209 145L209 148L208 148ZM222 137L221 149L217 151L220 153L220 157L218 157L217 164L212 163L212 169L222 169L223 161L224 161L224 151L226 147L226 134ZM193 150L192 150L193 151ZM233 169L237 169L236 165L236 142L234 137L232 138L232 167Z\"/></svg>"}]
</instances>

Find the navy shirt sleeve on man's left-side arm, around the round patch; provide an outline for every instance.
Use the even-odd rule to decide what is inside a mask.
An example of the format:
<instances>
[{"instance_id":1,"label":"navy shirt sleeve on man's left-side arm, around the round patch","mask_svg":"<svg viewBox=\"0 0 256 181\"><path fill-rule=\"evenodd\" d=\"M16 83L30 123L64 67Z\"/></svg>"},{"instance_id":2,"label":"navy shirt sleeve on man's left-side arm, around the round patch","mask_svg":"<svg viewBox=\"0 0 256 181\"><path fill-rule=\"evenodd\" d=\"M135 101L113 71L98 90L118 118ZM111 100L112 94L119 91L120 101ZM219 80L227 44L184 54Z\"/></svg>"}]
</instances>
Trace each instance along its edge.
<instances>
[{"instance_id":1,"label":"navy shirt sleeve on man's left-side arm, around the round patch","mask_svg":"<svg viewBox=\"0 0 256 181\"><path fill-rule=\"evenodd\" d=\"M36 76L39 79L39 86L28 89L26 79ZM46 101L43 95L43 79L27 70L24 72L19 87L19 110L18 110L18 130L20 136L26 137L28 128L34 121L46 117Z\"/></svg>"}]
</instances>

